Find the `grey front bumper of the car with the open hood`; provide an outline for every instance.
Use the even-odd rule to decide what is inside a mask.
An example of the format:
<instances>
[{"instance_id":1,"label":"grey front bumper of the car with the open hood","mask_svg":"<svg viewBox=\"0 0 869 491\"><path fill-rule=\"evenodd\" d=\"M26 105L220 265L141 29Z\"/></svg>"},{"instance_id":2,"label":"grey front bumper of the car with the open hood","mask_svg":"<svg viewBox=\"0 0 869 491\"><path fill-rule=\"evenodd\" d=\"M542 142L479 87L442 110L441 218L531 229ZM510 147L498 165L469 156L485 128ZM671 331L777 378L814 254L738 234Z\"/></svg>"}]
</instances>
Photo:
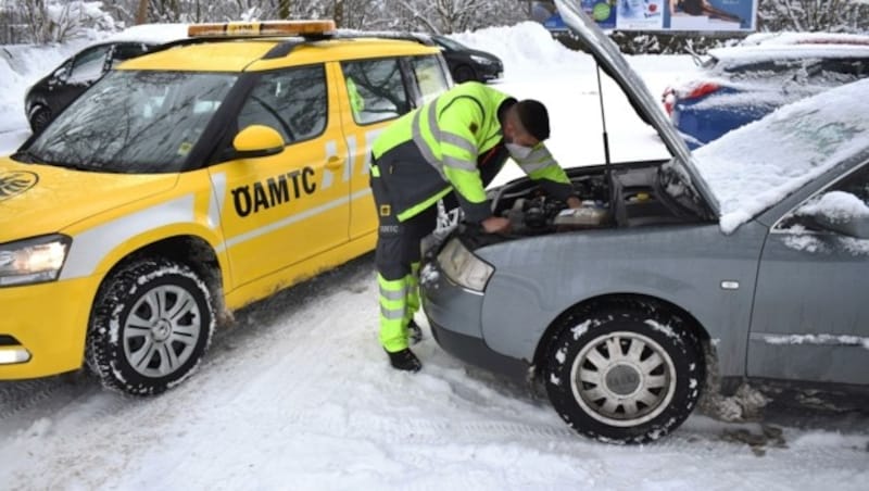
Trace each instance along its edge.
<instances>
[{"instance_id":1,"label":"grey front bumper of the car with the open hood","mask_svg":"<svg viewBox=\"0 0 869 491\"><path fill-rule=\"evenodd\" d=\"M483 293L452 282L437 262L427 263L423 268L420 293L431 333L445 352L516 380L527 379L528 363L504 356L486 344L481 328Z\"/></svg>"}]
</instances>

